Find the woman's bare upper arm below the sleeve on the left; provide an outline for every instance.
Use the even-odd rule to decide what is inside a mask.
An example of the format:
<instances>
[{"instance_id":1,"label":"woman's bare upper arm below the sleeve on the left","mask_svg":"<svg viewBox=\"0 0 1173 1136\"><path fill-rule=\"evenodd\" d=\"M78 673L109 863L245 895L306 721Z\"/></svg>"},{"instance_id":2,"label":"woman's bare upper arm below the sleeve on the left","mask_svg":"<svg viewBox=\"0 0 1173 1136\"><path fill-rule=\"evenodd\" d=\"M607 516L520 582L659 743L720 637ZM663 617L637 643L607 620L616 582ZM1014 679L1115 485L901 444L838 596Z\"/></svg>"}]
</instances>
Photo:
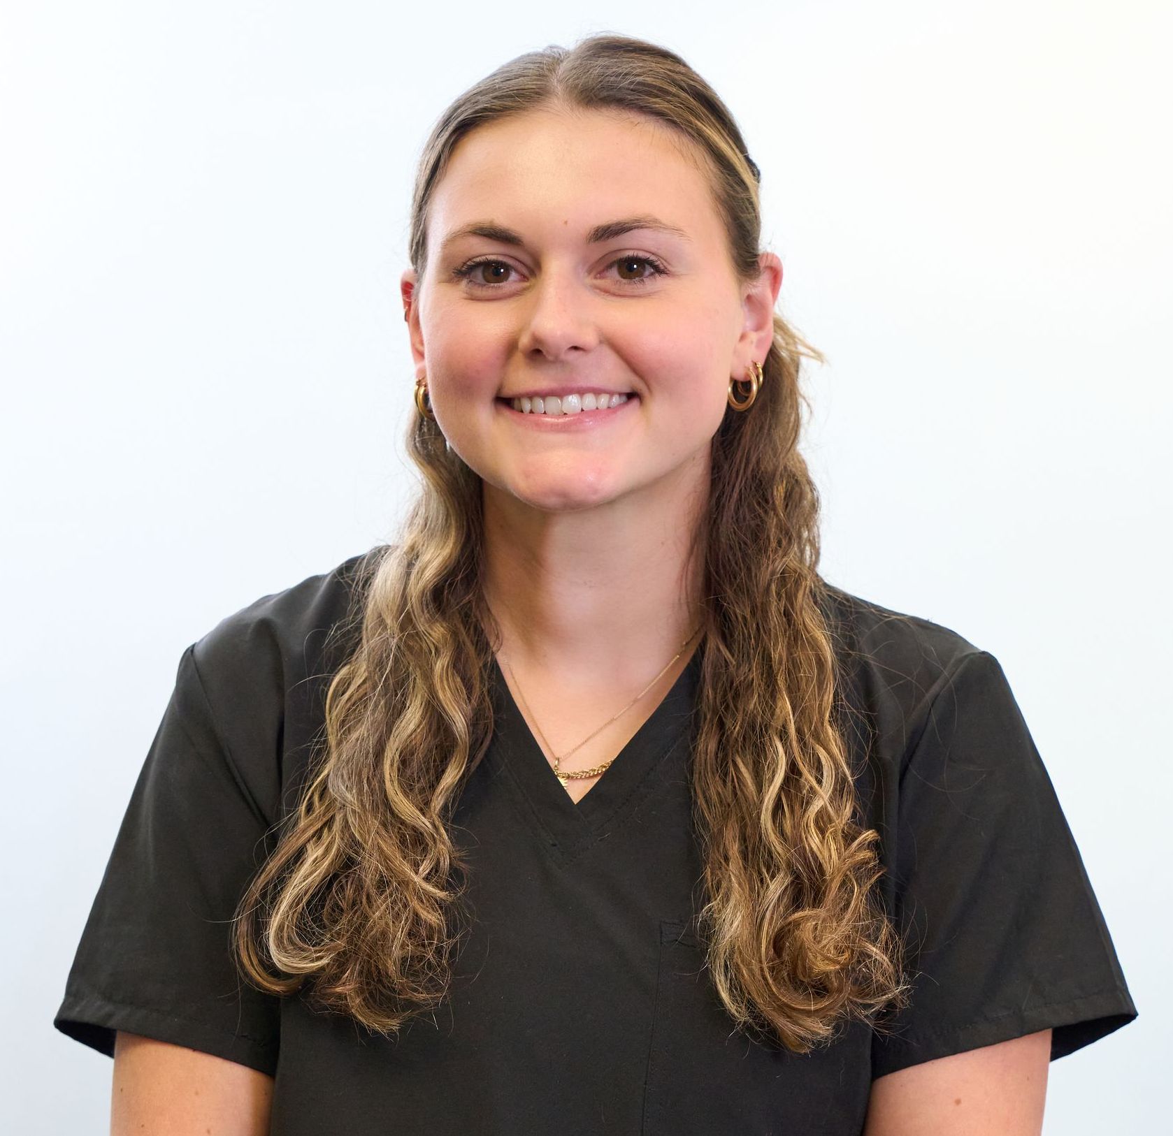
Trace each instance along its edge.
<instances>
[{"instance_id":1,"label":"woman's bare upper arm below the sleeve on the left","mask_svg":"<svg viewBox=\"0 0 1173 1136\"><path fill-rule=\"evenodd\" d=\"M248 1066L118 1030L110 1136L265 1136L272 1096Z\"/></svg>"}]
</instances>

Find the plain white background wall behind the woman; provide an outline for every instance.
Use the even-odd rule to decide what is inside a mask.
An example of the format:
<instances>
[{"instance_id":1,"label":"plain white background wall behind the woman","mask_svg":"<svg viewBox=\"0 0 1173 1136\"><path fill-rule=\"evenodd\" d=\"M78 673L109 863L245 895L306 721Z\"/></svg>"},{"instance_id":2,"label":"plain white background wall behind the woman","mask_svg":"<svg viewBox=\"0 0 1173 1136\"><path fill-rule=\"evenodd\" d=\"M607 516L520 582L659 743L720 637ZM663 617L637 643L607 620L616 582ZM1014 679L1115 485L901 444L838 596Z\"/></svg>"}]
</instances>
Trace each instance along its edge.
<instances>
[{"instance_id":1,"label":"plain white background wall behind the woman","mask_svg":"<svg viewBox=\"0 0 1173 1136\"><path fill-rule=\"evenodd\" d=\"M433 120L615 30L683 54L761 166L781 311L829 359L825 573L999 659L1082 849L1140 1018L1051 1066L1045 1130L1159 1130L1167 7L556 11L4 0L0 1128L106 1130L110 1062L52 1018L184 647L394 531Z\"/></svg>"}]
</instances>

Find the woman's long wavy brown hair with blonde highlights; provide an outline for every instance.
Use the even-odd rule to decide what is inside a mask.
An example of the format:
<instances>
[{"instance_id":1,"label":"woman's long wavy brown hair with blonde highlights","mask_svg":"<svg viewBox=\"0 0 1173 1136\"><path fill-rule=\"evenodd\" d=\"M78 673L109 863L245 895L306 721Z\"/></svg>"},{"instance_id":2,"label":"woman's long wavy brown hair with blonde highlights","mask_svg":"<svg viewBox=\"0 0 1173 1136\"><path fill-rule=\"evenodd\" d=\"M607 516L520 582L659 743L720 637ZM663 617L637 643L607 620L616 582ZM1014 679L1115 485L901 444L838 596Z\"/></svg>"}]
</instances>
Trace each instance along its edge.
<instances>
[{"instance_id":1,"label":"woman's long wavy brown hair with blonde highlights","mask_svg":"<svg viewBox=\"0 0 1173 1136\"><path fill-rule=\"evenodd\" d=\"M461 95L425 144L409 253L427 264L428 206L457 143L547 107L650 116L704 161L739 279L759 271L759 171L730 111L683 59L619 35L518 56ZM731 1019L796 1053L848 1018L883 1028L907 1004L902 944L857 822L818 573L819 497L799 453L802 358L775 314L761 389L712 440L703 546L703 665L691 789L703 856L697 926ZM493 733L500 626L482 593L476 474L430 419L407 448L421 488L394 545L360 563L317 757L242 897L238 962L256 987L398 1033L449 988L467 926L450 818ZM694 547L697 543L694 542ZM491 637L491 638L490 638Z\"/></svg>"}]
</instances>

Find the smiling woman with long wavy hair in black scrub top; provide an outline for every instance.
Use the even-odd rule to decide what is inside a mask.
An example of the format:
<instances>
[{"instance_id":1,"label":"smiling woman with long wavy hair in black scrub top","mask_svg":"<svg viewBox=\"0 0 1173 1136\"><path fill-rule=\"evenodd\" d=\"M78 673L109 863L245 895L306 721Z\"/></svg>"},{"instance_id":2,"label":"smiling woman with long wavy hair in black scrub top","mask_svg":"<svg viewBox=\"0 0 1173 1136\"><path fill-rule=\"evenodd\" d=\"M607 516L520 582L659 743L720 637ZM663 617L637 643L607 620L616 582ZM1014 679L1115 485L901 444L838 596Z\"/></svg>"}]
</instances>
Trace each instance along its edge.
<instances>
[{"instance_id":1,"label":"smiling woman with long wavy hair in black scrub top","mask_svg":"<svg viewBox=\"0 0 1173 1136\"><path fill-rule=\"evenodd\" d=\"M758 176L621 36L440 118L423 487L183 655L56 1021L115 1131L1038 1132L1135 1016L997 661L816 571Z\"/></svg>"}]
</instances>

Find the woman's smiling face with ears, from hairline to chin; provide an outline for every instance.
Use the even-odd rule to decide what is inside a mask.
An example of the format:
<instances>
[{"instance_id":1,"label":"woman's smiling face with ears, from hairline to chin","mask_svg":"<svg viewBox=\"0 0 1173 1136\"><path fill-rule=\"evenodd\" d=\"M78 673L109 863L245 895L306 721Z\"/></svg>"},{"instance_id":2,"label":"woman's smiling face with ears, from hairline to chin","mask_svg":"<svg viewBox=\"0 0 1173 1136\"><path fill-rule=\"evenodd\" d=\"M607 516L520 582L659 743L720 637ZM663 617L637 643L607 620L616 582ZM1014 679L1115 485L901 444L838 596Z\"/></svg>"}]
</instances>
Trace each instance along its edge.
<instances>
[{"instance_id":1,"label":"woman's smiling face with ears, from hairline to chin","mask_svg":"<svg viewBox=\"0 0 1173 1136\"><path fill-rule=\"evenodd\" d=\"M453 152L402 293L416 377L487 491L562 511L707 487L730 379L769 348L781 266L764 253L739 284L685 144L643 116L541 110Z\"/></svg>"}]
</instances>

